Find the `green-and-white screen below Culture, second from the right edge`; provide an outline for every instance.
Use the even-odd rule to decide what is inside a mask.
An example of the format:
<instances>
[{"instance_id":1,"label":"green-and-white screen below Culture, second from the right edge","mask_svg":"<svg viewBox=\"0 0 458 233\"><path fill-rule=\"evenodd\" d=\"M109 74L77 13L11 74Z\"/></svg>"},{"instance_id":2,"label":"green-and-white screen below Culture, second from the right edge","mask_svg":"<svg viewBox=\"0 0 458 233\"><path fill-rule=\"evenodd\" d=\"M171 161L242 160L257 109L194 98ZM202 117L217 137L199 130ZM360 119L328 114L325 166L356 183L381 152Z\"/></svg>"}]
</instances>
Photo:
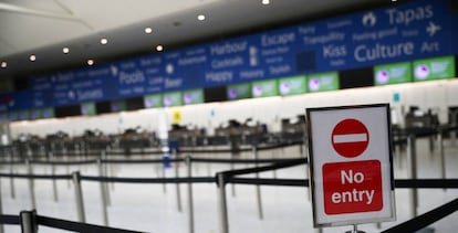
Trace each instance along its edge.
<instances>
[{"instance_id":1,"label":"green-and-white screen below Culture, second from the right edge","mask_svg":"<svg viewBox=\"0 0 458 233\"><path fill-rule=\"evenodd\" d=\"M400 62L374 67L374 84L388 85L412 82L412 64Z\"/></svg>"}]
</instances>

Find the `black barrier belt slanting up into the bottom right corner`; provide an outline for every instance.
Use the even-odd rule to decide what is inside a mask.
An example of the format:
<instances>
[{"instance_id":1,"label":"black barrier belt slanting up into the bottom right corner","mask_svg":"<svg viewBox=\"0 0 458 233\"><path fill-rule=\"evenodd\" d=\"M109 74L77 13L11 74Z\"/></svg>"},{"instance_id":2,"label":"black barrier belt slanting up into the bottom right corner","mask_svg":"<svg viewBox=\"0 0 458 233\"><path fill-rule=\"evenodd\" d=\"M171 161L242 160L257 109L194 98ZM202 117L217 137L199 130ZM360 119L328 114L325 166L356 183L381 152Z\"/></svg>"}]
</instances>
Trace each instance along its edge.
<instances>
[{"instance_id":1,"label":"black barrier belt slanting up into the bottom right corner","mask_svg":"<svg viewBox=\"0 0 458 233\"><path fill-rule=\"evenodd\" d=\"M455 199L447 204L428 211L415 219L400 223L394 227L383 231L382 233L397 233L397 232L416 232L440 219L456 212L458 210L458 199Z\"/></svg>"}]
</instances>

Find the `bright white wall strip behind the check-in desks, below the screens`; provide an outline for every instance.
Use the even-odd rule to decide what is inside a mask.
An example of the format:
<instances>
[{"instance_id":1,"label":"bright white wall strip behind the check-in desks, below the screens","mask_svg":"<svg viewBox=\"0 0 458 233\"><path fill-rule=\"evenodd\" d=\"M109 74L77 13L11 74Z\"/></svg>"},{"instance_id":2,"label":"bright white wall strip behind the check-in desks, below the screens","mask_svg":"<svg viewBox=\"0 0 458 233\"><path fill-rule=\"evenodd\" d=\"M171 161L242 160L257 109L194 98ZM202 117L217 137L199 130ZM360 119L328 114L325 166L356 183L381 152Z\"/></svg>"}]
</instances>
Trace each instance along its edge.
<instances>
[{"instance_id":1,"label":"bright white wall strip behind the check-in desks, below the screens","mask_svg":"<svg viewBox=\"0 0 458 233\"><path fill-rule=\"evenodd\" d=\"M398 96L398 100L395 100L395 95ZM71 136L80 136L86 129L100 129L104 134L121 134L127 128L135 127L147 131L157 131L160 112L166 113L168 125L174 123L174 115L179 113L181 115L179 125L206 128L209 135L212 135L216 127L225 125L229 119L244 121L247 118L267 124L269 131L280 131L282 118L295 118L298 115L304 115L308 107L376 103L389 103L395 109L394 120L400 125L404 124L403 116L409 106L418 106L424 112L431 109L439 115L440 124L446 124L449 118L448 107L458 107L458 80L142 109L92 117L15 121L11 124L11 136L17 138L20 134L32 134L44 137L59 130Z\"/></svg>"}]
</instances>

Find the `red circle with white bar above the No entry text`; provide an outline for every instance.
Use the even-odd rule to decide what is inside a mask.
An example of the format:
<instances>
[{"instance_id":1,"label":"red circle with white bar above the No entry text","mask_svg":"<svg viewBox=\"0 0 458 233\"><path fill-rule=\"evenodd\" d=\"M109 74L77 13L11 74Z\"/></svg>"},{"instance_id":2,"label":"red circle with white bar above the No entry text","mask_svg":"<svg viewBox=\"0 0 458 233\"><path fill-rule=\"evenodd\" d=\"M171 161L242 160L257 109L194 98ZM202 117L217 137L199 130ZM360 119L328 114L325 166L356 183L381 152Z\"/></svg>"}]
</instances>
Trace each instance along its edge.
<instances>
[{"instance_id":1,"label":"red circle with white bar above the No entry text","mask_svg":"<svg viewBox=\"0 0 458 233\"><path fill-rule=\"evenodd\" d=\"M344 119L334 126L332 146L339 155L354 158L366 150L369 135L366 126L357 119Z\"/></svg>"}]
</instances>

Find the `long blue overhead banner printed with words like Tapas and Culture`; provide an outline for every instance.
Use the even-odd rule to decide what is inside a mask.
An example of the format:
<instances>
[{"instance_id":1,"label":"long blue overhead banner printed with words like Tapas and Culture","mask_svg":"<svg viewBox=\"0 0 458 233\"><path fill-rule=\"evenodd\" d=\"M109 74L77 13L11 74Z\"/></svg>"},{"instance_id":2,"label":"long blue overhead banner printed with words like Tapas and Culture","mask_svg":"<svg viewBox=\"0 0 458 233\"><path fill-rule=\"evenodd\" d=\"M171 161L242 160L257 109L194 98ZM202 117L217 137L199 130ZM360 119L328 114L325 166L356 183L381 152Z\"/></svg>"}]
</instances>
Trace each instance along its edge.
<instances>
[{"instance_id":1,"label":"long blue overhead banner printed with words like Tapas and Culture","mask_svg":"<svg viewBox=\"0 0 458 233\"><path fill-rule=\"evenodd\" d=\"M448 6L448 0L393 3L344 17L31 77L25 95L12 95L14 99L27 100L10 102L8 106L0 103L0 110L121 99L450 56L458 54L458 43L452 41L457 38L458 13ZM428 64L424 65L421 68ZM451 72L447 70L444 74L450 76ZM416 80L421 78L426 77Z\"/></svg>"}]
</instances>

